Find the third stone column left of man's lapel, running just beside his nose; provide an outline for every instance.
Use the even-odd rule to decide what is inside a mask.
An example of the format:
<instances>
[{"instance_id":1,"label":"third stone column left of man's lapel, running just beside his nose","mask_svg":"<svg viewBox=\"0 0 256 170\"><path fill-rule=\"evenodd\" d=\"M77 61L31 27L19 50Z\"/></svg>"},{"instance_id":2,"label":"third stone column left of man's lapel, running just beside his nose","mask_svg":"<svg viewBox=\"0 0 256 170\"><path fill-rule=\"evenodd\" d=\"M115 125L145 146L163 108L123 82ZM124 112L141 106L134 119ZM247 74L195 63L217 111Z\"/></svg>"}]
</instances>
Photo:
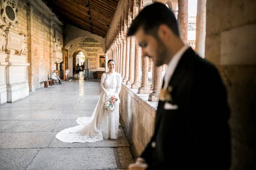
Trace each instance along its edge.
<instances>
[{"instance_id":1,"label":"third stone column left of man's lapel, running just beside his nose","mask_svg":"<svg viewBox=\"0 0 256 170\"><path fill-rule=\"evenodd\" d=\"M139 49L138 42L135 42L135 58L134 58L134 82L132 88L139 88L141 83L139 82L140 66L139 61L141 57L141 51Z\"/></svg>"}]
</instances>

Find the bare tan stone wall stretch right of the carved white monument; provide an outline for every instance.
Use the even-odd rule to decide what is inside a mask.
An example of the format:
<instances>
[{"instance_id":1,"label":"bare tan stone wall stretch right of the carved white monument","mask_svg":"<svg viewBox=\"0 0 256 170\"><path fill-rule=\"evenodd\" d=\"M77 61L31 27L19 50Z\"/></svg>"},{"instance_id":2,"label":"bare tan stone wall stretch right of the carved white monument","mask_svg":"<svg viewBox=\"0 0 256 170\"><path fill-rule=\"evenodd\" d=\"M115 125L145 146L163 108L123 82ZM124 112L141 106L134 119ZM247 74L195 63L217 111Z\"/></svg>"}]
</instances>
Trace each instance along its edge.
<instances>
[{"instance_id":1,"label":"bare tan stone wall stretch right of the carved white monument","mask_svg":"<svg viewBox=\"0 0 256 170\"><path fill-rule=\"evenodd\" d=\"M62 24L54 20L53 13L46 10L48 7L43 2L31 0L26 1L25 5L23 8L26 8L28 62L31 63L28 78L30 91L33 92L56 69L54 63L62 62Z\"/></svg>"}]
</instances>

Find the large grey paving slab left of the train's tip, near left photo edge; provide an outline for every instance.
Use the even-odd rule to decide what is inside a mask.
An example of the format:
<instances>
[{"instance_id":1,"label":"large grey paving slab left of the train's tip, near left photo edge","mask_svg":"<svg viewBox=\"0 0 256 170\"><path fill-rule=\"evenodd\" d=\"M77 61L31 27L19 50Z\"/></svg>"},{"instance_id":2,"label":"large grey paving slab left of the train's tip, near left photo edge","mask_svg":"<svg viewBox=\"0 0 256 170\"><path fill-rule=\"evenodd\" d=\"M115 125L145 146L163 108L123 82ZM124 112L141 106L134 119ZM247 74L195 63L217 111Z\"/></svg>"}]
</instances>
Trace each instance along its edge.
<instances>
[{"instance_id":1,"label":"large grey paving slab left of the train's tip, near left photo edge","mask_svg":"<svg viewBox=\"0 0 256 170\"><path fill-rule=\"evenodd\" d=\"M50 132L59 120L19 120L2 132ZM1 123L1 121L0 121Z\"/></svg>"}]
</instances>

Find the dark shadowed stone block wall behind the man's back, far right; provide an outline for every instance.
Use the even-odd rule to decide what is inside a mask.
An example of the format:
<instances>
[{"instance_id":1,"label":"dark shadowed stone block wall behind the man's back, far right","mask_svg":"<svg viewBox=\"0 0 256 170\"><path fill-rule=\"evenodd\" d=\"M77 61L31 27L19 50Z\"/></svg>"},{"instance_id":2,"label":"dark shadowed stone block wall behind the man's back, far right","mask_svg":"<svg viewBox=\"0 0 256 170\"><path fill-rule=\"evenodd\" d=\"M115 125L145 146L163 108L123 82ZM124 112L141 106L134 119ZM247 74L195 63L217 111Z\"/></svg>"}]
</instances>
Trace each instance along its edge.
<instances>
[{"instance_id":1,"label":"dark shadowed stone block wall behind the man's back, far right","mask_svg":"<svg viewBox=\"0 0 256 170\"><path fill-rule=\"evenodd\" d=\"M205 58L226 84L232 170L256 169L256 1L207 1Z\"/></svg>"}]
</instances>

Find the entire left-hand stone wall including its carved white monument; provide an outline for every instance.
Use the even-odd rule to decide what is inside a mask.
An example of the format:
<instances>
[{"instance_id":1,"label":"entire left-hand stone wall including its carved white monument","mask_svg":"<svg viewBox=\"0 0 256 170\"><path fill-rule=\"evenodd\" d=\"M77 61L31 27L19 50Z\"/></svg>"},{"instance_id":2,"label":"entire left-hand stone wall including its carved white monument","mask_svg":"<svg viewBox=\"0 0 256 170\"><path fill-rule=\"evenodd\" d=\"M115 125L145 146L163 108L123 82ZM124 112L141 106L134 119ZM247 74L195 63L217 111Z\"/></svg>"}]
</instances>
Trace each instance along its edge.
<instances>
[{"instance_id":1,"label":"entire left-hand stone wall including its carved white monument","mask_svg":"<svg viewBox=\"0 0 256 170\"><path fill-rule=\"evenodd\" d=\"M0 2L0 104L43 86L62 62L62 23L42 0Z\"/></svg>"}]
</instances>

